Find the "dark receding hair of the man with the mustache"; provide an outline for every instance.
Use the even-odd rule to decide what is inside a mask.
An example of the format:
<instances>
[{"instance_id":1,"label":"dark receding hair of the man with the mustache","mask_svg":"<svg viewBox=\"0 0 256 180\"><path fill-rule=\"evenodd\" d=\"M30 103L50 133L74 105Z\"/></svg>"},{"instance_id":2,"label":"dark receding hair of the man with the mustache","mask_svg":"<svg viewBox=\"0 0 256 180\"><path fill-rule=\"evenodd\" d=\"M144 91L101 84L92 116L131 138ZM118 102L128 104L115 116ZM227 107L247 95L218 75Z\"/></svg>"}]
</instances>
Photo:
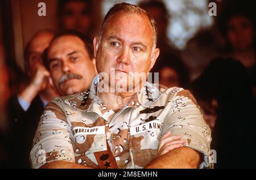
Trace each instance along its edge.
<instances>
[{"instance_id":1,"label":"dark receding hair of the man with the mustache","mask_svg":"<svg viewBox=\"0 0 256 180\"><path fill-rule=\"evenodd\" d=\"M85 36L84 34L77 32L77 31L73 31L73 30L68 30L68 31L64 31L64 32L60 32L58 33L55 37L53 37L51 44L53 41L55 41L57 38L59 37L63 37L63 36L75 36L80 38L80 40L82 42L84 42L84 46L85 49L89 55L89 57L92 59L94 58L94 54L93 54L93 41L92 39L90 39L88 36ZM51 45L50 44L50 45ZM49 45L49 46L50 46ZM48 48L44 51L43 53L43 63L44 66L46 66L49 69L49 65L48 65L48 59L47 59L47 53L48 53Z\"/></svg>"}]
</instances>

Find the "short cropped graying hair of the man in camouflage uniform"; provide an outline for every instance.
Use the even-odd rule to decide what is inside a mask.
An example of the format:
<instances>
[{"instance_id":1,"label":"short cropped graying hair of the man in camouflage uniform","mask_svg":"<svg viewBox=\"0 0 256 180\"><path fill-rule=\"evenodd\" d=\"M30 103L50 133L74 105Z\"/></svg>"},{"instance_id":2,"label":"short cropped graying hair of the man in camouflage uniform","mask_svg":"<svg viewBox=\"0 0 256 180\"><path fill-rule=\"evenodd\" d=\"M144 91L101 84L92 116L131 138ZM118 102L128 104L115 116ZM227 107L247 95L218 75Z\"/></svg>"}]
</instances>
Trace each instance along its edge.
<instances>
[{"instance_id":1,"label":"short cropped graying hair of the man in camouflage uniform","mask_svg":"<svg viewBox=\"0 0 256 180\"><path fill-rule=\"evenodd\" d=\"M138 7L136 5L131 5L129 3L117 3L115 4L112 8L110 8L110 10L108 11L108 13L106 14L102 24L101 24L101 29L100 29L100 42L101 42L101 38L103 35L103 31L106 27L106 23L108 22L108 20L110 18L112 18L115 14L117 14L118 12L129 12L129 13L135 13L135 14L144 14L148 17L148 20L150 20L150 24L153 30L153 40L154 40L154 46L156 47L156 43L157 43L157 28L156 28L156 23L155 20L153 18L151 18L147 12L145 10L143 10L143 8Z\"/></svg>"}]
</instances>

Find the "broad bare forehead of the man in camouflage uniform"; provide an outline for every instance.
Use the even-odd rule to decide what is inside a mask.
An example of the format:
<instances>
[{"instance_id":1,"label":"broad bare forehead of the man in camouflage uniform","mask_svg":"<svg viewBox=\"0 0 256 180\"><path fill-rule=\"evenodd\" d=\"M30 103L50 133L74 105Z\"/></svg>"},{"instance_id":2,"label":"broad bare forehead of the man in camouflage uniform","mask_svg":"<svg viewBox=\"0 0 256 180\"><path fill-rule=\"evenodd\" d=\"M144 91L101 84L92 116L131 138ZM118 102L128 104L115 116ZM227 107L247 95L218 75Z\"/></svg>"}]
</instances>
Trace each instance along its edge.
<instances>
[{"instance_id":1,"label":"broad bare forehead of the man in camouflage uniform","mask_svg":"<svg viewBox=\"0 0 256 180\"><path fill-rule=\"evenodd\" d=\"M106 23L105 37L117 36L137 41L153 40L150 20L144 14L118 12Z\"/></svg>"}]
</instances>

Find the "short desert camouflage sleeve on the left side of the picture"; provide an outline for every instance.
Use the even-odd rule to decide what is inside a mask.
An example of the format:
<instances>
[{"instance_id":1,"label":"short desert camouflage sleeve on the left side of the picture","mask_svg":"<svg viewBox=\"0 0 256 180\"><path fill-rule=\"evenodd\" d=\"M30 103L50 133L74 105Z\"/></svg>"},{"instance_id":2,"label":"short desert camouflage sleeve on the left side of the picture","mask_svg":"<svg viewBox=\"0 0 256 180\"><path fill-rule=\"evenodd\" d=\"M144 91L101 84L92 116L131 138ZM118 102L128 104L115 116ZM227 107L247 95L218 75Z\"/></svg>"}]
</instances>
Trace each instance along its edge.
<instances>
[{"instance_id":1,"label":"short desert camouflage sleeve on the left side of the picture","mask_svg":"<svg viewBox=\"0 0 256 180\"><path fill-rule=\"evenodd\" d=\"M73 134L63 110L49 102L40 118L30 152L31 168L52 161L75 162Z\"/></svg>"}]
</instances>

